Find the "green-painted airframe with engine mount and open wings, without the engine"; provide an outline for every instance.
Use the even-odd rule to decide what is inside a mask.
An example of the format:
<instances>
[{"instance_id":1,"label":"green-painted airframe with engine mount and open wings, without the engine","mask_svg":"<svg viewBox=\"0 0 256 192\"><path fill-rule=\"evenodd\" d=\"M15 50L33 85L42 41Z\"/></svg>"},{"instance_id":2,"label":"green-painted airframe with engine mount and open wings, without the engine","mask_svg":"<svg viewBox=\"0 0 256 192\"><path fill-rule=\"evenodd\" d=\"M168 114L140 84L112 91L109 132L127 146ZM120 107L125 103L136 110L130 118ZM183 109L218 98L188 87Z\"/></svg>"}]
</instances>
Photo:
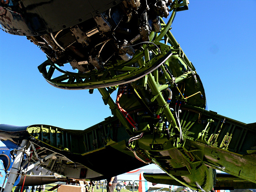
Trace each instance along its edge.
<instances>
[{"instance_id":1,"label":"green-painted airframe with engine mount and open wings, without the engine","mask_svg":"<svg viewBox=\"0 0 256 192\"><path fill-rule=\"evenodd\" d=\"M101 69L94 66L96 69L75 73L61 70L49 57L38 67L57 88L90 89L91 94L97 88L113 115L83 131L26 127L34 144L70 160L60 160L61 166L50 160L42 166L65 176L70 176L69 166L79 173L87 170L88 175L80 178L106 178L110 176L106 166L112 160L102 162L94 154L103 155L107 150L120 157L113 160L117 170L112 175L128 171L121 167L123 156L135 162L129 168L154 163L164 170L166 174L145 174L154 183L178 181L193 190L210 191L216 185L216 169L243 180L242 188L247 188L246 183L255 185L256 124L206 110L200 77L170 31L176 12L187 6L185 0L174 0L168 23L160 19L161 29L148 33L148 41L122 46L120 50L139 46L129 60L109 60ZM116 102L110 96L115 90ZM102 166L93 168L99 163ZM99 174L90 175L89 170Z\"/></svg>"}]
</instances>

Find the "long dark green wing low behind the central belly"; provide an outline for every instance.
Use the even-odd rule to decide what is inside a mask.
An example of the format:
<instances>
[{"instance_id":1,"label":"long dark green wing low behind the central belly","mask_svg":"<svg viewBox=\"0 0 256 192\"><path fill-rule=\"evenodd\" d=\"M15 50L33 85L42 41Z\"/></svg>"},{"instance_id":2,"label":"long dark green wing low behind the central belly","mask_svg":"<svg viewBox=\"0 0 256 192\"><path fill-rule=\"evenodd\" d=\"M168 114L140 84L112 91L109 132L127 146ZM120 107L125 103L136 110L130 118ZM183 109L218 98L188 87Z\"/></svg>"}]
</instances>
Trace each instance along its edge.
<instances>
[{"instance_id":1,"label":"long dark green wing low behind the central belly","mask_svg":"<svg viewBox=\"0 0 256 192\"><path fill-rule=\"evenodd\" d=\"M182 186L180 182L174 180L166 173L144 173L144 178L152 183L168 184ZM253 182L246 181L242 178L232 176L226 173L216 174L216 184L214 190L233 190L233 189L252 189L256 188L256 184Z\"/></svg>"}]
</instances>

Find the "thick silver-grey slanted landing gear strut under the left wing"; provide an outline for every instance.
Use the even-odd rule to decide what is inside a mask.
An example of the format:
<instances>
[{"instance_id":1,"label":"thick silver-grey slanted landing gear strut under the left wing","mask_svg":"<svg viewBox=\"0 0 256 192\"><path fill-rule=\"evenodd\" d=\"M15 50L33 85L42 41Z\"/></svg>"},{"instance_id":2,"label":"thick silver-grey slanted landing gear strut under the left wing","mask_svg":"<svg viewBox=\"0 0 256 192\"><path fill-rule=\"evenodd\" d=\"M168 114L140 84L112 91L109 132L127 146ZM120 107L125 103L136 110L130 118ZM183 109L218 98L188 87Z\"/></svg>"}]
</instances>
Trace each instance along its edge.
<instances>
[{"instance_id":1,"label":"thick silver-grey slanted landing gear strut under the left wing","mask_svg":"<svg viewBox=\"0 0 256 192\"><path fill-rule=\"evenodd\" d=\"M18 171L20 169L20 164L22 162L23 158L23 152L24 152L24 147L28 143L28 140L22 140L22 143L20 147L17 150L16 157L14 159L14 162L12 164L12 168L10 169L10 173L6 182L6 186L4 188L4 192L12 192L12 188L14 186L14 182L16 180L16 177L18 175Z\"/></svg>"}]
</instances>

